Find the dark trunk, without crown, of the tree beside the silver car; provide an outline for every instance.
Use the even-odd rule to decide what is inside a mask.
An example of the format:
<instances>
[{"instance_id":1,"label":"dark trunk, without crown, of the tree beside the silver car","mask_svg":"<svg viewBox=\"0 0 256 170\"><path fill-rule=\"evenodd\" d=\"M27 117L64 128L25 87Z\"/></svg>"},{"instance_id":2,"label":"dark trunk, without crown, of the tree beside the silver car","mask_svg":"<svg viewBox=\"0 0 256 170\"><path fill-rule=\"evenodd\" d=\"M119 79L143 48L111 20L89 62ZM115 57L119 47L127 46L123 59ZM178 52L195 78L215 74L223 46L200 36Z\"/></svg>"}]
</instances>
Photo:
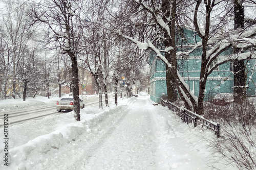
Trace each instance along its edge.
<instances>
[{"instance_id":1,"label":"dark trunk, without crown, of the tree beside the silver car","mask_svg":"<svg viewBox=\"0 0 256 170\"><path fill-rule=\"evenodd\" d=\"M79 103L79 77L77 58L74 53L68 53L72 62L72 84L73 84L73 98L74 98L74 118L80 121L80 103Z\"/></svg>"}]
</instances>

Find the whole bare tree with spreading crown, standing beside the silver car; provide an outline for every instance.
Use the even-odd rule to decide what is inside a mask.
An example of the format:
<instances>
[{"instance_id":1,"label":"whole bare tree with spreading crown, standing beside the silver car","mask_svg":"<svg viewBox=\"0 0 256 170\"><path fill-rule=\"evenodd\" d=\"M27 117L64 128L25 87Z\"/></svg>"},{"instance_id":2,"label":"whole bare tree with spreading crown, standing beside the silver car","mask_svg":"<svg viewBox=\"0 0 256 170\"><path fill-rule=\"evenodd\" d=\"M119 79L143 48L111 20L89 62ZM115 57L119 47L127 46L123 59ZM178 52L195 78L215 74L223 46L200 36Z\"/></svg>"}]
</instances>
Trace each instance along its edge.
<instances>
[{"instance_id":1,"label":"whole bare tree with spreading crown, standing beside the silver car","mask_svg":"<svg viewBox=\"0 0 256 170\"><path fill-rule=\"evenodd\" d=\"M79 81L77 55L83 34L85 13L83 1L43 0L32 3L31 18L34 23L42 23L46 29L47 43L67 53L72 63L72 84L74 95L74 117L80 121Z\"/></svg>"}]
</instances>

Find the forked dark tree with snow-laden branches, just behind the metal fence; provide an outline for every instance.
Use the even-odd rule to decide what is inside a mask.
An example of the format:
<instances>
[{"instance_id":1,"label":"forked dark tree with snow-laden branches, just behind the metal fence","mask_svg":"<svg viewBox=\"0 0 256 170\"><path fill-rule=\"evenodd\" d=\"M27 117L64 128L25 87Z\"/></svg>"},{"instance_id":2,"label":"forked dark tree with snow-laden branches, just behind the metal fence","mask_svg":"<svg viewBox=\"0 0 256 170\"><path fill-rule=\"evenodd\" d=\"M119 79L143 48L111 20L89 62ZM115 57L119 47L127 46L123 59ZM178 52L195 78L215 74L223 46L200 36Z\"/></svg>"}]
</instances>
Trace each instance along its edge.
<instances>
[{"instance_id":1,"label":"forked dark tree with snow-laden branches, just behind the metal fence","mask_svg":"<svg viewBox=\"0 0 256 170\"><path fill-rule=\"evenodd\" d=\"M218 60L218 57L223 52L229 50L233 44L238 46L241 45L243 43L243 38L253 37L253 33L250 33L250 31L247 32L246 35L245 32L239 34L228 28L228 23L230 21L228 18L232 16L232 8L233 6L229 1L196 1L193 24L195 26L196 34L202 41L196 43L192 50L180 54L188 56L188 54L194 50L202 49L202 55L200 56L201 71L197 102L198 106L197 108L194 107L194 111L199 114L204 114L204 93L208 77L214 70L218 69L220 65L232 61L234 58L238 58L238 56L232 54L229 54L229 57L222 60ZM222 13L223 15L220 17L218 16L219 13ZM204 19L202 20L202 18ZM246 49L250 46L252 46L252 44L248 43ZM237 47L233 46L233 48ZM243 57L243 60L249 58L250 56ZM241 79L241 75L239 77ZM244 78L245 76L242 76L242 79Z\"/></svg>"}]
</instances>

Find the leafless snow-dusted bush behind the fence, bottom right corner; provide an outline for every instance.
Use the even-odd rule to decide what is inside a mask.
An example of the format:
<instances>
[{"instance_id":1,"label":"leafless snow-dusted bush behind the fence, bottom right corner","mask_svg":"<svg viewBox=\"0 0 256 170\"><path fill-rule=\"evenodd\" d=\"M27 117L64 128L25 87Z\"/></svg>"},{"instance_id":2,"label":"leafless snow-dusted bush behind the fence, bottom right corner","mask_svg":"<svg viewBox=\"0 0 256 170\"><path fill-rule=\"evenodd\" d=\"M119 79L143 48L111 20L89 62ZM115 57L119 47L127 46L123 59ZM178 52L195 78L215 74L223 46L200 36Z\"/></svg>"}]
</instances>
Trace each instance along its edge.
<instances>
[{"instance_id":1,"label":"leafless snow-dusted bush behind the fence, bottom right corner","mask_svg":"<svg viewBox=\"0 0 256 170\"><path fill-rule=\"evenodd\" d=\"M214 154L238 169L256 169L255 98L242 104L205 104L205 116L221 124L221 138L210 140Z\"/></svg>"}]
</instances>

